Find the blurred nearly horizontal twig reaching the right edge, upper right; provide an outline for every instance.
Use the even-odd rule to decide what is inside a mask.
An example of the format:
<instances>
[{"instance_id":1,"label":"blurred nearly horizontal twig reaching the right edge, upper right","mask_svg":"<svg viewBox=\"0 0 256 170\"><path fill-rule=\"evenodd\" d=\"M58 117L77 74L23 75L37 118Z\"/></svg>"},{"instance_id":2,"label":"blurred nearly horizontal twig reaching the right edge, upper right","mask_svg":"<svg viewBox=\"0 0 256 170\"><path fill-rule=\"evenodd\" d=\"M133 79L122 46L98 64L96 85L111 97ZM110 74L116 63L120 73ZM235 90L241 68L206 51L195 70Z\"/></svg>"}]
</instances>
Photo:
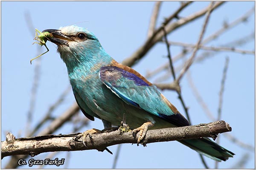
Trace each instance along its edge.
<instances>
[{"instance_id":1,"label":"blurred nearly horizontal twig reaching the right edge, upper right","mask_svg":"<svg viewBox=\"0 0 256 170\"><path fill-rule=\"evenodd\" d=\"M169 41L169 44L182 46L182 47L186 47L186 48L195 48L194 44L189 44L189 43L185 43L185 42ZM236 49L236 48L232 48L232 47L209 47L209 46L201 45L201 46L199 46L199 49L210 50L210 51L230 51L230 52L241 53L241 54L255 54L255 51L241 50L241 49Z\"/></svg>"}]
</instances>

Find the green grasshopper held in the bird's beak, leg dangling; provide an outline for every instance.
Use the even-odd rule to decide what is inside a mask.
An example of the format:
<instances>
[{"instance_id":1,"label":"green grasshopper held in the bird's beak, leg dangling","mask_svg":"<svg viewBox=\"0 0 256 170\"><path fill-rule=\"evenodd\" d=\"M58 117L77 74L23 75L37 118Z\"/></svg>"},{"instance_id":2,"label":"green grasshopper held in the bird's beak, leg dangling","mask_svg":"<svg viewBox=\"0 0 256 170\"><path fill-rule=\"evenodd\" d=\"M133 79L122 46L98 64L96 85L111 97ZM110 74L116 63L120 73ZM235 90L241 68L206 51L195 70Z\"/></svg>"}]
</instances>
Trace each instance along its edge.
<instances>
[{"instance_id":1,"label":"green grasshopper held in the bird's beak, leg dangling","mask_svg":"<svg viewBox=\"0 0 256 170\"><path fill-rule=\"evenodd\" d=\"M38 35L38 33L39 33L39 35ZM36 43L36 44L39 44L39 45L41 45L41 46L44 45L44 46L46 47L47 51L44 52L43 54L40 54L39 56L37 56L37 57L31 59L31 60L30 60L30 64L32 64L32 60L37 59L38 57L44 55L45 53L47 53L47 52L49 51L49 49L48 49L47 46L46 46L46 42L47 42L47 39L48 39L49 37L53 37L52 34L50 34L49 32L41 32L41 31L39 31L37 28L35 28L35 38L34 38L34 40L38 40L39 42L34 42L33 44ZM48 39L48 40L49 40L49 39Z\"/></svg>"}]
</instances>

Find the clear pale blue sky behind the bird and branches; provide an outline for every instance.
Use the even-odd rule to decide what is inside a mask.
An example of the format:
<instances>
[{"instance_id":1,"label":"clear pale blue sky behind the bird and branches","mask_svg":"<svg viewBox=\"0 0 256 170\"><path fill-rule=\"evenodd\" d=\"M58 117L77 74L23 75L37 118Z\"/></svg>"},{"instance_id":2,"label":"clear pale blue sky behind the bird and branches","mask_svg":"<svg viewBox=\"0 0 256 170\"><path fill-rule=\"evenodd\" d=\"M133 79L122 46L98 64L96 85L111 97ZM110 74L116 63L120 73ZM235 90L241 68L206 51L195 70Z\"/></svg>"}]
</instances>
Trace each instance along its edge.
<instances>
[{"instance_id":1,"label":"clear pale blue sky behind the bird and branches","mask_svg":"<svg viewBox=\"0 0 256 170\"><path fill-rule=\"evenodd\" d=\"M25 20L25 13L29 12L32 23L39 30L58 29L60 26L77 24L88 28L100 40L105 51L118 62L129 57L146 40L151 11L155 2L1 2L1 141L5 140L6 132L12 132L16 137L26 134L27 112L31 96L34 68L41 60L41 71L36 94L33 125L44 117L61 93L70 85L67 69L59 54L56 45L47 42L49 52L30 65L29 60L41 54L46 49L32 45L35 32L31 32ZM209 2L195 2L180 13L187 16L206 7ZM164 17L172 14L180 5L179 2L163 2L157 26L163 22ZM224 20L231 22L240 17L254 6L254 2L227 2L214 11L210 17L209 25L204 37L221 28ZM201 31L204 17L195 22L173 31L169 40L178 42L196 43ZM255 16L250 16L246 23L222 34L209 46L219 46L232 42L250 34L255 30ZM244 50L254 50L254 40L237 47ZM179 54L180 47L172 46L172 56ZM198 51L198 56L204 51ZM165 44L159 43L145 55L134 69L145 75L160 65L169 62ZM188 55L187 57L189 57ZM202 95L210 111L217 115L218 92L221 85L222 71L225 57L229 57L229 68L224 90L224 102L221 119L232 127L232 134L242 142L255 146L255 56L233 52L215 54L203 62L195 63L190 68L192 79ZM183 62L175 63L175 66ZM177 73L178 74L178 73ZM153 79L149 79L154 82ZM171 82L172 79L166 80ZM181 81L183 98L189 107L192 124L212 122L204 113L195 99L186 76ZM169 101L174 104L180 113L184 114L177 94L173 91L162 91ZM70 91L64 102L53 113L58 116L75 101ZM82 114L81 112L79 114ZM72 125L69 123L57 130L55 134L71 133ZM90 122L88 127L102 129L102 122L97 119ZM255 167L255 152L242 149L220 135L223 147L236 153L236 156L219 164L220 168L230 168L236 164L244 153L250 153L245 168ZM116 153L117 146L109 149ZM44 159L47 154L40 154L34 159ZM97 150L72 152L67 158L66 152L55 155L55 158L66 158L67 168L111 168L114 155ZM214 161L206 158L207 164L214 167ZM2 159L2 168L9 158ZM46 168L64 168L45 166ZM179 142L161 142L148 144L147 147L123 144L117 163L117 168L204 168L198 153L183 146ZM29 168L21 166L19 168ZM36 166L32 168L37 168Z\"/></svg>"}]
</instances>

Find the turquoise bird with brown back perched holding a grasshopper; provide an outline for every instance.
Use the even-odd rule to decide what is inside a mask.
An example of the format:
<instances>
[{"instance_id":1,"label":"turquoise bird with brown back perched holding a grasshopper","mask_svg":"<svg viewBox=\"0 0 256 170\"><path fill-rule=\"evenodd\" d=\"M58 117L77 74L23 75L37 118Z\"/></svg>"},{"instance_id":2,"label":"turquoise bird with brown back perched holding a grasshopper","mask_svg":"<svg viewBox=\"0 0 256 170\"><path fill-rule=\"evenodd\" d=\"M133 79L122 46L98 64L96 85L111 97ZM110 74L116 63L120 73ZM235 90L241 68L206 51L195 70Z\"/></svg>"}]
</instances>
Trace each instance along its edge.
<instances>
[{"instance_id":1,"label":"turquoise bird with brown back perched holding a grasshopper","mask_svg":"<svg viewBox=\"0 0 256 170\"><path fill-rule=\"evenodd\" d=\"M58 46L76 102L88 119L99 118L107 128L120 125L125 114L126 123L139 135L138 144L148 129L190 125L156 86L133 68L116 62L86 28L72 25L42 32L51 34L45 41ZM77 137L84 140L98 131L87 130ZM215 161L235 155L205 137L178 142Z\"/></svg>"}]
</instances>

